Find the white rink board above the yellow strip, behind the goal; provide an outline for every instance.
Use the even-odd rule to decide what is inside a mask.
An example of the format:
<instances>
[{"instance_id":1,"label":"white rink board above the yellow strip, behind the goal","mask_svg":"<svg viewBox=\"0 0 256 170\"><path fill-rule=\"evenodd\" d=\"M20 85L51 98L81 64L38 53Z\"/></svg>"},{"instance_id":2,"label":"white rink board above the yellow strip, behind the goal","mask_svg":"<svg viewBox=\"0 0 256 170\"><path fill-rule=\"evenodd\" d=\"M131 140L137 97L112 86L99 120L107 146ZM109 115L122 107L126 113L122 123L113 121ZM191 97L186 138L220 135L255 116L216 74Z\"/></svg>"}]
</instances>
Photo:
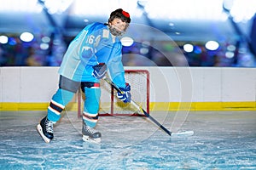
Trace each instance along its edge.
<instances>
[{"instance_id":1,"label":"white rink board above the yellow strip, behind the goal","mask_svg":"<svg viewBox=\"0 0 256 170\"><path fill-rule=\"evenodd\" d=\"M125 67L148 70L150 102L255 101L256 68ZM1 67L0 102L49 102L58 67ZM132 88L132 87L131 87Z\"/></svg>"}]
</instances>

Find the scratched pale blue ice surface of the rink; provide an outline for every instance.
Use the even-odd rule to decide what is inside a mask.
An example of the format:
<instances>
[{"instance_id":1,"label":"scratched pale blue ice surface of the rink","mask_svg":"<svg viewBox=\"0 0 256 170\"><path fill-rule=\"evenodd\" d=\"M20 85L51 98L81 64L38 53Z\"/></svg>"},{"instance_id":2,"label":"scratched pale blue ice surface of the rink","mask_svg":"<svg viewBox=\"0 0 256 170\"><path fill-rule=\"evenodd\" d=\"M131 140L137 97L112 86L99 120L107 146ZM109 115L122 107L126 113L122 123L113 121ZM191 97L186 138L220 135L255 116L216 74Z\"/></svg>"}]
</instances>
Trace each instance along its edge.
<instances>
[{"instance_id":1,"label":"scratched pale blue ice surface of the rink","mask_svg":"<svg viewBox=\"0 0 256 170\"><path fill-rule=\"evenodd\" d=\"M82 141L82 122L67 111L44 143L45 111L0 112L0 169L256 169L256 111L190 111L170 137L144 117L100 116L102 144ZM170 129L174 111L151 112ZM177 123L178 124L178 123Z\"/></svg>"}]
</instances>

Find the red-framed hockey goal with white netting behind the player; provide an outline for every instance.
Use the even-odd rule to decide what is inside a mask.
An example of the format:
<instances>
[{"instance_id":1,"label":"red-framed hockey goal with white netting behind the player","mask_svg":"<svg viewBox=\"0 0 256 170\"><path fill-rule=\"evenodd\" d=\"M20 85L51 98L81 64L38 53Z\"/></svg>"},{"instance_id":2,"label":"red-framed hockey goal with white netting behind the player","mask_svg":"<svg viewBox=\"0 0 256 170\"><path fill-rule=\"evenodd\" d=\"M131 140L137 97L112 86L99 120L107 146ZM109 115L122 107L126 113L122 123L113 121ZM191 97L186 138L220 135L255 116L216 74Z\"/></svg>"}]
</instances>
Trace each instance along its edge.
<instances>
[{"instance_id":1,"label":"red-framed hockey goal with white netting behind the player","mask_svg":"<svg viewBox=\"0 0 256 170\"><path fill-rule=\"evenodd\" d=\"M131 99L149 113L149 71L125 70L125 81L131 85ZM108 82L101 80L101 100L99 116L140 116L130 103L123 103L116 97L116 90ZM84 94L79 90L78 116L84 108Z\"/></svg>"}]
</instances>

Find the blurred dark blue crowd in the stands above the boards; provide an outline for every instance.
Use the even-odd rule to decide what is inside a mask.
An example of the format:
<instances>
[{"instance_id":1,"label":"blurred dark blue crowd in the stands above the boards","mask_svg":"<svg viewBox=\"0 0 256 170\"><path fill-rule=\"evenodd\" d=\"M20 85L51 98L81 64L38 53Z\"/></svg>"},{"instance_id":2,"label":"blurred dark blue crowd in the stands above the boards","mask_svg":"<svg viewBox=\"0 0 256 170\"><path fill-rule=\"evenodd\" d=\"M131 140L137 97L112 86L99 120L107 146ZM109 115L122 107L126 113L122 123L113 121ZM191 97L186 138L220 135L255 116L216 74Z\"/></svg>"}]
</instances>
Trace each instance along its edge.
<instances>
[{"instance_id":1,"label":"blurred dark blue crowd in the stands above the boards","mask_svg":"<svg viewBox=\"0 0 256 170\"><path fill-rule=\"evenodd\" d=\"M47 44L42 43L41 37L22 42L13 36L8 43L0 43L0 65L59 66L73 37L55 38ZM246 46L236 49L221 44L211 51L204 43L191 43L195 43L194 50L188 53L183 50L184 42L134 42L130 47L124 46L123 63L125 66L255 66L254 56Z\"/></svg>"}]
</instances>

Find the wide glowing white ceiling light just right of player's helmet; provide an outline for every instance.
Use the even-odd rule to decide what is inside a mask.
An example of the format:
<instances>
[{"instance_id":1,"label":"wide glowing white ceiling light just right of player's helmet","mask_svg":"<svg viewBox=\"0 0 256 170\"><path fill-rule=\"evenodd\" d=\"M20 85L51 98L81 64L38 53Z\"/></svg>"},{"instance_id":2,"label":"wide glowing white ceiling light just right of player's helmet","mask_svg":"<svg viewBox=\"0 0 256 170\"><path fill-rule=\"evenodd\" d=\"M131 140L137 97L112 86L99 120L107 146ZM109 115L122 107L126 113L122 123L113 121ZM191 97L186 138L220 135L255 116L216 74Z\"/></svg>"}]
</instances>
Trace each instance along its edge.
<instances>
[{"instance_id":1,"label":"wide glowing white ceiling light just right of player's helmet","mask_svg":"<svg viewBox=\"0 0 256 170\"><path fill-rule=\"evenodd\" d=\"M152 19L166 20L226 20L223 0L157 0L148 1L145 9Z\"/></svg>"}]
</instances>

